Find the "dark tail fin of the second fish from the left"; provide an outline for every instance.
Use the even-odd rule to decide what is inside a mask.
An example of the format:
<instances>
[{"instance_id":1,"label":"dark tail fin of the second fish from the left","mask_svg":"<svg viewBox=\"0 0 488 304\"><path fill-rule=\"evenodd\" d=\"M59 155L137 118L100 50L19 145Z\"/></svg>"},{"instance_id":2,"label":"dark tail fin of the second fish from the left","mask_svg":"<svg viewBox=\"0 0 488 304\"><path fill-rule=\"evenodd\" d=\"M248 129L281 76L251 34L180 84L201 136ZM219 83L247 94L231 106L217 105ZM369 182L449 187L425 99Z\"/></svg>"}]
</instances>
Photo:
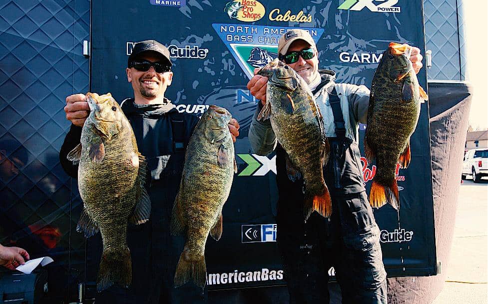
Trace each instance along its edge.
<instances>
[{"instance_id":1,"label":"dark tail fin of the second fish from the left","mask_svg":"<svg viewBox=\"0 0 488 304\"><path fill-rule=\"evenodd\" d=\"M188 251L181 252L176 271L174 273L174 286L179 287L189 280L193 280L195 285L203 288L206 283L207 266L205 256L198 255L190 257Z\"/></svg>"}]
</instances>

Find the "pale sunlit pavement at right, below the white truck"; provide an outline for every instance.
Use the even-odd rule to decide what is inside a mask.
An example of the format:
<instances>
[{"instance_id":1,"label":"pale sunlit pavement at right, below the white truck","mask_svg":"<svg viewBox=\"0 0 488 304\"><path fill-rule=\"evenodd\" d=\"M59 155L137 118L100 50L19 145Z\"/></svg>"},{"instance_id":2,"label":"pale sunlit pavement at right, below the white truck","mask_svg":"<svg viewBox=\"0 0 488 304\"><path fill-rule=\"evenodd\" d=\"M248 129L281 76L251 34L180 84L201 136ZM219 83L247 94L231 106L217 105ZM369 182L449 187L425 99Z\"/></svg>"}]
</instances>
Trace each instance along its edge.
<instances>
[{"instance_id":1,"label":"pale sunlit pavement at right, below the white truck","mask_svg":"<svg viewBox=\"0 0 488 304\"><path fill-rule=\"evenodd\" d=\"M486 304L488 278L488 178L461 184L446 282L432 304Z\"/></svg>"}]
</instances>

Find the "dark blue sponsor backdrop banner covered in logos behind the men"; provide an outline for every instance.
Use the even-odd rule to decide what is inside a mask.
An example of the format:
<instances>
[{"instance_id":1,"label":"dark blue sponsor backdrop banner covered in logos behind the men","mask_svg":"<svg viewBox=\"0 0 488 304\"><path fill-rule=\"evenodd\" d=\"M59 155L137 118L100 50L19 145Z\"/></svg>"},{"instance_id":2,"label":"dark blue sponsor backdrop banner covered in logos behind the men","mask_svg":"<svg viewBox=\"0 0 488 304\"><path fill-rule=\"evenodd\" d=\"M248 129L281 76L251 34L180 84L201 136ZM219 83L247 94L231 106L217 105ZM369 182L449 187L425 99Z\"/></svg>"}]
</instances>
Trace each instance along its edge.
<instances>
[{"instance_id":1,"label":"dark blue sponsor backdrop banner covered in logos behind the men","mask_svg":"<svg viewBox=\"0 0 488 304\"><path fill-rule=\"evenodd\" d=\"M207 243L209 288L283 284L274 220L275 156L250 149L247 135L257 100L246 84L255 67L277 56L280 35L303 28L317 41L319 68L335 70L337 82L369 87L390 41L425 53L422 1L102 0L92 5L92 91L110 91L119 102L131 97L127 57L134 42L156 39L171 52L174 77L165 96L177 109L201 115L217 104L241 124L223 235ZM427 89L425 68L418 77ZM436 274L428 118L423 103L411 139L412 162L397 169L400 214L390 205L375 209L389 276ZM369 191L376 166L361 160Z\"/></svg>"}]
</instances>

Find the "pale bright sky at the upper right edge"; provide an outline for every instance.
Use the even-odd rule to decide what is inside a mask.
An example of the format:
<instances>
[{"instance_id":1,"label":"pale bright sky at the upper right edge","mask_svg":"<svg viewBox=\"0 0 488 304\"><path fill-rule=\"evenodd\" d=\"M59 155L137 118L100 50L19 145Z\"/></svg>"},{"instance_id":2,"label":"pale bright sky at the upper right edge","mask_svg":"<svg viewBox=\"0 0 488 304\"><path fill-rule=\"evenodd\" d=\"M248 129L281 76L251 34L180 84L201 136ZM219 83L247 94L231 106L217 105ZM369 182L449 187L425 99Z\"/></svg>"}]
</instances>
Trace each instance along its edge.
<instances>
[{"instance_id":1,"label":"pale bright sky at the upper right edge","mask_svg":"<svg viewBox=\"0 0 488 304\"><path fill-rule=\"evenodd\" d=\"M463 0L467 80L473 86L470 124L488 128L488 1Z\"/></svg>"}]
</instances>

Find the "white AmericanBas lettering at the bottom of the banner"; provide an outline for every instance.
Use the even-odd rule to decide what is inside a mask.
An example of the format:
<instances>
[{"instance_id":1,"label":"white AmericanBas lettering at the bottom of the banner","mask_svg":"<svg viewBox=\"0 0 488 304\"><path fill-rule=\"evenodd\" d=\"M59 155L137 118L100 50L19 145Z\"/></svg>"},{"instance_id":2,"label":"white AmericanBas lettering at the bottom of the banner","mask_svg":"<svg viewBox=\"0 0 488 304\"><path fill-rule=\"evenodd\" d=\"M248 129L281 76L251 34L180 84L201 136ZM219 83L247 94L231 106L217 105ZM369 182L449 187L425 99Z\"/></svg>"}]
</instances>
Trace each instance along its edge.
<instances>
[{"instance_id":1,"label":"white AmericanBas lettering at the bottom of the banner","mask_svg":"<svg viewBox=\"0 0 488 304\"><path fill-rule=\"evenodd\" d=\"M270 270L268 268L247 272L234 270L234 272L209 273L207 276L207 284L220 285L276 279L283 279L283 270Z\"/></svg>"}]
</instances>

